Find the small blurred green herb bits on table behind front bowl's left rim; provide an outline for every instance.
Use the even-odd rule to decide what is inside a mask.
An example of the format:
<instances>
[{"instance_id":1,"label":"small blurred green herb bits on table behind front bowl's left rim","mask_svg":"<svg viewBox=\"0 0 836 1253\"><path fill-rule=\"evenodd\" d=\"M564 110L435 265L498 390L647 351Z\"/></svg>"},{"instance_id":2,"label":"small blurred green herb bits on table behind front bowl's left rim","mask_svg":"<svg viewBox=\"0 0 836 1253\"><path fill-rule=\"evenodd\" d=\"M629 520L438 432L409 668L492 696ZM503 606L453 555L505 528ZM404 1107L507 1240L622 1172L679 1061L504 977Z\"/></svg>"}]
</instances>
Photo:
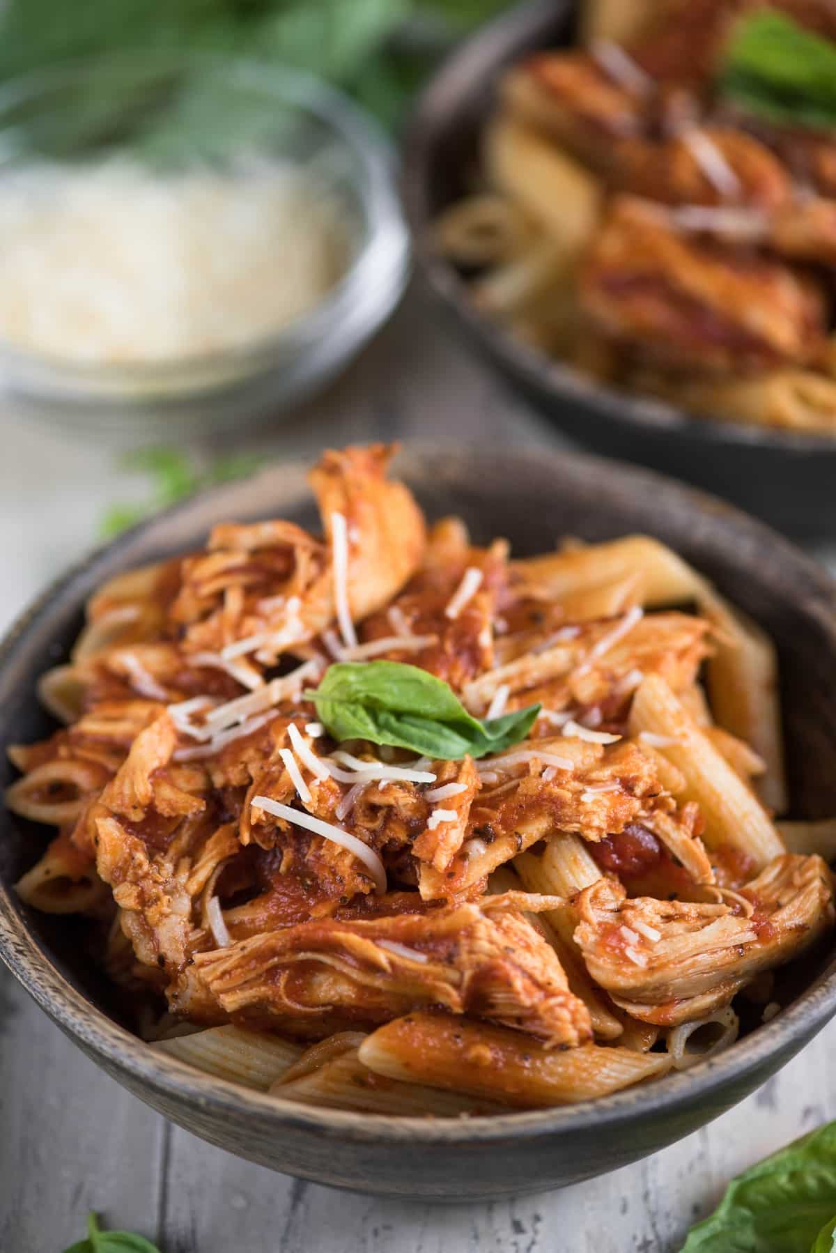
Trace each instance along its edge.
<instances>
[{"instance_id":1,"label":"small blurred green herb bits on table behind front bowl's left rim","mask_svg":"<svg viewBox=\"0 0 836 1253\"><path fill-rule=\"evenodd\" d=\"M194 495L202 487L212 487L234 479L246 479L259 466L259 459L248 454L233 454L217 457L206 467L180 449L154 445L135 449L122 457L119 469L130 474L144 475L148 480L148 499L142 504L110 505L99 521L99 534L103 539L113 539L143 517L167 509L169 505Z\"/></svg>"}]
</instances>

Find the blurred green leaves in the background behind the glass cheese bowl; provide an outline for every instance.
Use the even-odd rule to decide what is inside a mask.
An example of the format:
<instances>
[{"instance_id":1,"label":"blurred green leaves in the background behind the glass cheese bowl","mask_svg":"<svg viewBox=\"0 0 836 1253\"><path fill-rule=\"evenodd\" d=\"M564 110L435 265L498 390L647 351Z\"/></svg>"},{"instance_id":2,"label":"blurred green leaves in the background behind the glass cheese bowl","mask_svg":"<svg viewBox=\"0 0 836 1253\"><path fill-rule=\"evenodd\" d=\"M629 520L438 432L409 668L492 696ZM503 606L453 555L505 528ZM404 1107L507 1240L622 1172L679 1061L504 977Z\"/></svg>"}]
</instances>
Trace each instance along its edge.
<instances>
[{"instance_id":1,"label":"blurred green leaves in the background behind the glass cheese bowl","mask_svg":"<svg viewBox=\"0 0 836 1253\"><path fill-rule=\"evenodd\" d=\"M355 94L381 120L395 124L416 84L452 39L493 16L503 0L6 0L0 5L0 83L74 58L104 60L120 51L218 53L310 70ZM208 117L207 100L191 89L149 99L147 88L114 96L114 80L91 74L79 105L84 134L110 138L120 123L148 125L155 153L170 150L154 133L165 124L193 134L197 125L216 148L229 135L258 132L268 103L253 96L251 118L241 110ZM127 99L125 99L127 95ZM118 108L114 109L114 104ZM148 118L145 117L148 114ZM65 125L65 122L61 123ZM55 137L48 137L54 139ZM60 138L60 137L59 137ZM69 138L66 139L69 142Z\"/></svg>"}]
</instances>

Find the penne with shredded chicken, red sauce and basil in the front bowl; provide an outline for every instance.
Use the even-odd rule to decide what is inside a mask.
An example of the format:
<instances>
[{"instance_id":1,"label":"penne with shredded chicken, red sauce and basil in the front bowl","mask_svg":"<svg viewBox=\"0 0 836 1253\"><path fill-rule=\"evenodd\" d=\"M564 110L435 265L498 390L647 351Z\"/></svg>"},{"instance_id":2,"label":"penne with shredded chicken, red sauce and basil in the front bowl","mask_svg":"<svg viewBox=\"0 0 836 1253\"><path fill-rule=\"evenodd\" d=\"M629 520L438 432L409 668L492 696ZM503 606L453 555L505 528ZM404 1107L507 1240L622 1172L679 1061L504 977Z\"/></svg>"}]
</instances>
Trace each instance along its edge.
<instances>
[{"instance_id":1,"label":"penne with shredded chicken, red sauce and basil in the front bowl","mask_svg":"<svg viewBox=\"0 0 836 1253\"><path fill-rule=\"evenodd\" d=\"M775 818L775 648L649 535L518 555L389 457L326 454L318 526L213 516L90 581L39 682L64 725L10 748L15 826L55 829L18 895L86 920L132 1064L254 1101L254 1140L271 1106L429 1145L698 1096L831 942L832 824Z\"/></svg>"}]
</instances>

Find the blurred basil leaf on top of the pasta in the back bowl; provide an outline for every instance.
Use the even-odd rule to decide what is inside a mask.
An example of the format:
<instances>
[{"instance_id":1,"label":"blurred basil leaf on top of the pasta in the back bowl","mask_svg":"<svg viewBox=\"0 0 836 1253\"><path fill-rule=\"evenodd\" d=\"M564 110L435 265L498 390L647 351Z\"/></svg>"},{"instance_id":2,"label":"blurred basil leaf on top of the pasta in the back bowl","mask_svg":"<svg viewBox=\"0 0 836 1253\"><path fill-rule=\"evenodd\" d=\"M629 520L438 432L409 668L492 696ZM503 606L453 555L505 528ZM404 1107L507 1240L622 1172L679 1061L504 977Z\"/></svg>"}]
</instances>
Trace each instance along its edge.
<instances>
[{"instance_id":1,"label":"blurred basil leaf on top of the pasta in the back bowl","mask_svg":"<svg viewBox=\"0 0 836 1253\"><path fill-rule=\"evenodd\" d=\"M726 49L721 93L778 123L836 125L836 44L773 9L745 18Z\"/></svg>"}]
</instances>

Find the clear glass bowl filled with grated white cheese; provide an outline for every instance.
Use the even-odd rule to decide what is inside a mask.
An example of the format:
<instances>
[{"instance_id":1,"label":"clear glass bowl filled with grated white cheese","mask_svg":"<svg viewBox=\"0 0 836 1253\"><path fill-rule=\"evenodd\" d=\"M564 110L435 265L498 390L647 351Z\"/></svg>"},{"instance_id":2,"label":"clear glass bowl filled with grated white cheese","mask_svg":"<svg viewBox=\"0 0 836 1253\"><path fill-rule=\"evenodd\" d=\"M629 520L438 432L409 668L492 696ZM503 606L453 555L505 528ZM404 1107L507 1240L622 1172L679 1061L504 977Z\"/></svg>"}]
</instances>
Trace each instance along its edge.
<instances>
[{"instance_id":1,"label":"clear glass bowl filled with grated white cheese","mask_svg":"<svg viewBox=\"0 0 836 1253\"><path fill-rule=\"evenodd\" d=\"M272 417L358 351L407 267L387 142L308 75L132 53L0 91L0 388L26 416Z\"/></svg>"}]
</instances>

